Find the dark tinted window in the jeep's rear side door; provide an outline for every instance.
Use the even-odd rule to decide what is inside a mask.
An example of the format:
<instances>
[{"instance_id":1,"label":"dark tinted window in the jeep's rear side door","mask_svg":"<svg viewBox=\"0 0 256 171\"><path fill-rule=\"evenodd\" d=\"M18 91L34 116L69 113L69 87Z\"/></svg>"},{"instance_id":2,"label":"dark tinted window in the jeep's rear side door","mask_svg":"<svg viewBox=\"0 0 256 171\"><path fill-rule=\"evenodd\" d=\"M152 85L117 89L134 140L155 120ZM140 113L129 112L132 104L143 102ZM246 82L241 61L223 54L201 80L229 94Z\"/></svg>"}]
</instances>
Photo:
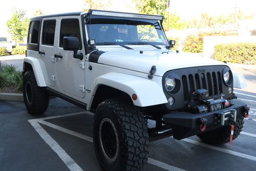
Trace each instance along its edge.
<instances>
[{"instance_id":1,"label":"dark tinted window in the jeep's rear side door","mask_svg":"<svg viewBox=\"0 0 256 171\"><path fill-rule=\"evenodd\" d=\"M45 20L42 25L42 44L51 45L54 44L56 20Z\"/></svg>"}]
</instances>

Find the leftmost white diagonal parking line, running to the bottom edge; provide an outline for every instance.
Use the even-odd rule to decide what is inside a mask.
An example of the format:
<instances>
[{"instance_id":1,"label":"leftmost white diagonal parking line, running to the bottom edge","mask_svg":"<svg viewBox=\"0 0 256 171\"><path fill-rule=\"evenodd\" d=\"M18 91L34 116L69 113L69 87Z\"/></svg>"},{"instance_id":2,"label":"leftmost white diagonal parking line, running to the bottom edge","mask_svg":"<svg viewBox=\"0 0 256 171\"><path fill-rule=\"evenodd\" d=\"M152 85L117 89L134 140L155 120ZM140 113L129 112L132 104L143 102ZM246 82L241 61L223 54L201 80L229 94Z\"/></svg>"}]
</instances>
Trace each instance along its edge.
<instances>
[{"instance_id":1,"label":"leftmost white diagonal parking line, running to the bottom edge","mask_svg":"<svg viewBox=\"0 0 256 171\"><path fill-rule=\"evenodd\" d=\"M37 120L28 120L29 123L34 127L36 132L41 136L42 139L51 147L51 149L59 156L59 158L67 165L71 171L80 171L81 167L63 150L59 144L42 128Z\"/></svg>"}]
</instances>

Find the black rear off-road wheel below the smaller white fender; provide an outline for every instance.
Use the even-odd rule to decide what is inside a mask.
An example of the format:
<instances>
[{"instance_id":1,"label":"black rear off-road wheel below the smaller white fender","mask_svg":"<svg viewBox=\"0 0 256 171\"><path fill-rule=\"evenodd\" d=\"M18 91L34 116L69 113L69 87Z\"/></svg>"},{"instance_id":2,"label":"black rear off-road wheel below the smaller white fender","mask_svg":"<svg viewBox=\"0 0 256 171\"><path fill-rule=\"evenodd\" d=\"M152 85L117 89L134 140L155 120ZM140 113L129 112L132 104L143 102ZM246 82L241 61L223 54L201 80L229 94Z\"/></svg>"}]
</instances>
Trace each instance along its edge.
<instances>
[{"instance_id":1,"label":"black rear off-road wheel below the smaller white fender","mask_svg":"<svg viewBox=\"0 0 256 171\"><path fill-rule=\"evenodd\" d=\"M34 72L26 71L23 78L23 99L30 114L44 113L49 105L49 94L37 86Z\"/></svg>"}]
</instances>

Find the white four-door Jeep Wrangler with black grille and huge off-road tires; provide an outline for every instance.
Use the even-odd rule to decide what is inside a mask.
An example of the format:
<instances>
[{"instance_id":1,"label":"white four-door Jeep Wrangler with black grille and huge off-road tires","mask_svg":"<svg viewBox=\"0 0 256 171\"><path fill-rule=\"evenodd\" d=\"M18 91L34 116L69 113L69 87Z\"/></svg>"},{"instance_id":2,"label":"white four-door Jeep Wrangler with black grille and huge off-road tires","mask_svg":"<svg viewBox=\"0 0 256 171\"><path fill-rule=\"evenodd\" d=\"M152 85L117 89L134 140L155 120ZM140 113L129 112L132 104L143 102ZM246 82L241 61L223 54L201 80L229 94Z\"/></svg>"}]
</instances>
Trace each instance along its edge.
<instances>
[{"instance_id":1,"label":"white four-door Jeep Wrangler with black grille and huge off-road tires","mask_svg":"<svg viewBox=\"0 0 256 171\"><path fill-rule=\"evenodd\" d=\"M31 18L23 68L29 113L44 113L49 94L94 112L103 170L140 170L150 141L169 136L237 138L249 110L233 94L243 77L225 63L170 50L175 42L162 21L101 10Z\"/></svg>"}]
</instances>

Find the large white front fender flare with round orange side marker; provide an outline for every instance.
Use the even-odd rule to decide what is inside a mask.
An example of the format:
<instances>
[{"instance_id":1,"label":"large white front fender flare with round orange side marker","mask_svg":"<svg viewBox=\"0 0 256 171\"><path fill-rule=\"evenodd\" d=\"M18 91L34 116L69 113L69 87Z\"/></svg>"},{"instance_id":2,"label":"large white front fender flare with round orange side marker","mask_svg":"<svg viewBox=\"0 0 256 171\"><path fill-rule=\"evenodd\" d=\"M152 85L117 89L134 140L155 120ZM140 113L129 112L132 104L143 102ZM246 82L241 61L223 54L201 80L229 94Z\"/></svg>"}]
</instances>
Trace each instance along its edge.
<instances>
[{"instance_id":1,"label":"large white front fender flare with round orange side marker","mask_svg":"<svg viewBox=\"0 0 256 171\"><path fill-rule=\"evenodd\" d=\"M87 110L90 110L93 96L100 85L121 90L129 94L131 99L132 95L136 94L137 100L133 100L135 106L145 107L167 103L163 88L156 82L132 75L110 72L95 79L91 91L91 98L87 104Z\"/></svg>"}]
</instances>

